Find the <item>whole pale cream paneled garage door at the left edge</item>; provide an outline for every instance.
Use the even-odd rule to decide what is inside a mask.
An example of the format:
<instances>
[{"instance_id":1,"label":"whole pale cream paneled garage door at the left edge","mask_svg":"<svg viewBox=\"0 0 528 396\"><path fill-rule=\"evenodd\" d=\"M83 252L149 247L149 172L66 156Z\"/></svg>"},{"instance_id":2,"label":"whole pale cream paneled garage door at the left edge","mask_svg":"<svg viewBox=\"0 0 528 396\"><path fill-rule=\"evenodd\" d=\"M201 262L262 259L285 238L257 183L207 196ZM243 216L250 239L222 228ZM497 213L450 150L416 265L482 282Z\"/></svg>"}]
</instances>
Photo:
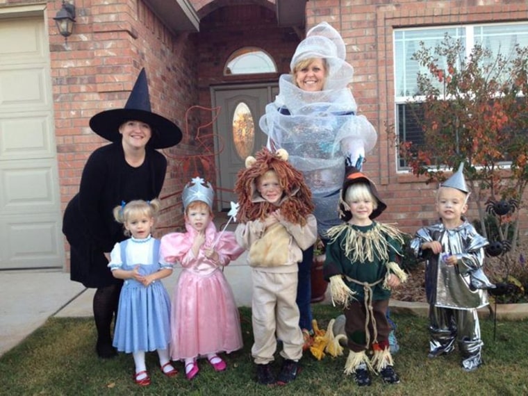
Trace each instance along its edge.
<instances>
[{"instance_id":1,"label":"whole pale cream paneled garage door at the left edge","mask_svg":"<svg viewBox=\"0 0 528 396\"><path fill-rule=\"evenodd\" d=\"M64 267L43 17L0 19L0 270Z\"/></svg>"}]
</instances>

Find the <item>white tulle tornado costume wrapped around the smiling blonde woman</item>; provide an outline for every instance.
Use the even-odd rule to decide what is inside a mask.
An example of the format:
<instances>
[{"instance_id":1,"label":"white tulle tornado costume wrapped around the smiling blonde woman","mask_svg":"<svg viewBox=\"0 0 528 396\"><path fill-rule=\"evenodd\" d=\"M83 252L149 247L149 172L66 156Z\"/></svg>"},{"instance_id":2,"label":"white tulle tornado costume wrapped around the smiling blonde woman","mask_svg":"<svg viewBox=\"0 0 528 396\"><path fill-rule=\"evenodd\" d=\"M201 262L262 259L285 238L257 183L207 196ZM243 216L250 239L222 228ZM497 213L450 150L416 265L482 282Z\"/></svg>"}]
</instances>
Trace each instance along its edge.
<instances>
[{"instance_id":1,"label":"white tulle tornado costume wrapped around the smiling blonde woman","mask_svg":"<svg viewBox=\"0 0 528 396\"><path fill-rule=\"evenodd\" d=\"M330 226L340 224L336 208L345 160L361 170L365 152L377 140L368 119L356 115L356 101L347 87L354 69L345 56L345 42L336 29L327 22L311 28L297 47L290 68L306 59L326 60L323 90L302 90L291 75L283 74L277 99L266 106L260 121L261 129L269 136L270 148L286 149L290 163L303 172L313 194L314 215L322 236Z\"/></svg>"}]
</instances>

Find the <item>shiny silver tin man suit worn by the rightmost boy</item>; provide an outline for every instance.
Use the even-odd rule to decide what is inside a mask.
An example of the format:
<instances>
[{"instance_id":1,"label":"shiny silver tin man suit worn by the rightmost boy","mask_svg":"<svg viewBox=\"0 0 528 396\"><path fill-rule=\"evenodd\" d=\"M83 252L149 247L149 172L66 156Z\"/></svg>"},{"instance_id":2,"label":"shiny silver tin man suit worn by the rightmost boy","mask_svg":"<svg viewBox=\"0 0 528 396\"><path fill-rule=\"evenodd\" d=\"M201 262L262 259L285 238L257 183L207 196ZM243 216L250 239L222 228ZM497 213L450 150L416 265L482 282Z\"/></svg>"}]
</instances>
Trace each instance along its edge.
<instances>
[{"instance_id":1,"label":"shiny silver tin man suit worn by the rightmost boy","mask_svg":"<svg viewBox=\"0 0 528 396\"><path fill-rule=\"evenodd\" d=\"M421 249L424 242L433 240L440 242L442 253ZM471 274L483 266L486 245L488 240L466 220L455 229L445 229L442 223L424 227L411 240L415 256L426 263L429 356L452 352L457 341L465 370L474 370L482 363L477 308L488 305L488 293L472 288ZM442 259L445 254L455 255L456 265L446 265Z\"/></svg>"}]
</instances>

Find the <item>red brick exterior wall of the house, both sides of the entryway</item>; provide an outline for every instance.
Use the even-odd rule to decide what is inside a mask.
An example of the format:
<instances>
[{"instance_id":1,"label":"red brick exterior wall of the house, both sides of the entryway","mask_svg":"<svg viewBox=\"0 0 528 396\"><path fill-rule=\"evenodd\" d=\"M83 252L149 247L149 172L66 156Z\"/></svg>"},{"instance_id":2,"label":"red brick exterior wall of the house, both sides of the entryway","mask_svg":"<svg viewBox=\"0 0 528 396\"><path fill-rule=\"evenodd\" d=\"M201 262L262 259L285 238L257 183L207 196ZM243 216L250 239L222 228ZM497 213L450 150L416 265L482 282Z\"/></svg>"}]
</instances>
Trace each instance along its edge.
<instances>
[{"instance_id":1,"label":"red brick exterior wall of the house, both sides of the entryway","mask_svg":"<svg viewBox=\"0 0 528 396\"><path fill-rule=\"evenodd\" d=\"M11 3L33 1L6 2ZM211 106L211 85L277 82L279 74L288 72L299 35L304 32L277 27L275 1L191 0L190 3L201 19L199 33L173 35L142 0L110 3L76 0L75 31L65 45L52 19L60 8L60 1L47 2L63 206L79 188L86 158L104 144L104 140L90 130L90 117L107 108L124 106L141 67L147 69L153 110L188 131L176 148L165 151L170 170L162 196L169 209L163 213L161 226L181 223L179 195L183 183L189 179L183 171L181 158L197 151L194 141L197 126L211 119L207 112L193 112L186 128L185 110L193 105ZM387 133L388 126L395 120L393 28L526 20L527 15L525 0L306 2L306 29L327 21L343 35L347 59L355 69L352 89L358 110L370 119L379 133L365 172L377 182L388 204L382 221L397 222L404 231L413 232L436 218L434 186L396 171L395 148ZM223 76L229 55L249 45L270 53L279 73L263 78ZM170 229L163 229L166 231Z\"/></svg>"}]
</instances>

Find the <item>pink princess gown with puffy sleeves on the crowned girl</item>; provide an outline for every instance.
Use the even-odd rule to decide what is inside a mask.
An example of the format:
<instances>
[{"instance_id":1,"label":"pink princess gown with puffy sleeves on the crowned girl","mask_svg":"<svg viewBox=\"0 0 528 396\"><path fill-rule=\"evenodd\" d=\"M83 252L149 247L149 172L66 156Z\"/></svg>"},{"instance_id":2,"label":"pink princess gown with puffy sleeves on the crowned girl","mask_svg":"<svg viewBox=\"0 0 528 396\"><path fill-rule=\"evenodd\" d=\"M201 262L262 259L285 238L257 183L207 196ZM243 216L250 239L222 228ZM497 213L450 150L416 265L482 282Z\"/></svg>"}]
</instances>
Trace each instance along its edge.
<instances>
[{"instance_id":1,"label":"pink princess gown with puffy sleeves on the crowned girl","mask_svg":"<svg viewBox=\"0 0 528 396\"><path fill-rule=\"evenodd\" d=\"M169 233L161 238L160 261L180 263L180 274L171 308L172 360L195 358L242 348L240 317L233 291L221 267L242 254L234 233L224 231L215 245L220 256L214 263L204 254L204 247L213 245L220 233L211 222L206 240L196 257L191 250L197 232L185 224L186 233Z\"/></svg>"}]
</instances>

